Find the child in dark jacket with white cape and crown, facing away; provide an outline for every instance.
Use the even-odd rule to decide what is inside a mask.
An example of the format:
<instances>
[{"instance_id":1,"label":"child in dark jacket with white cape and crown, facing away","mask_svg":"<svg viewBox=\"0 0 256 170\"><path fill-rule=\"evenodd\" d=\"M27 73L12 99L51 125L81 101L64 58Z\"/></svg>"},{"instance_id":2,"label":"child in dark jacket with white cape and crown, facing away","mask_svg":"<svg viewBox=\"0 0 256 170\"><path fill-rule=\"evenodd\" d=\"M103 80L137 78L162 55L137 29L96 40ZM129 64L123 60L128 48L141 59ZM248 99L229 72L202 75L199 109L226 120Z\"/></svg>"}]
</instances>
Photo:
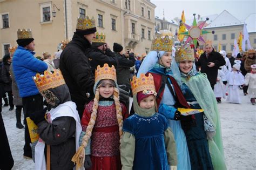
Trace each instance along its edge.
<instances>
[{"instance_id":1,"label":"child in dark jacket with white cape and crown, facing away","mask_svg":"<svg viewBox=\"0 0 256 170\"><path fill-rule=\"evenodd\" d=\"M59 70L37 73L33 80L48 106L30 114L40 137L35 147L35 169L46 169L45 155L50 155L50 162L47 162L50 169L72 169L71 158L79 146L82 131L76 104L71 101L68 86Z\"/></svg>"}]
</instances>

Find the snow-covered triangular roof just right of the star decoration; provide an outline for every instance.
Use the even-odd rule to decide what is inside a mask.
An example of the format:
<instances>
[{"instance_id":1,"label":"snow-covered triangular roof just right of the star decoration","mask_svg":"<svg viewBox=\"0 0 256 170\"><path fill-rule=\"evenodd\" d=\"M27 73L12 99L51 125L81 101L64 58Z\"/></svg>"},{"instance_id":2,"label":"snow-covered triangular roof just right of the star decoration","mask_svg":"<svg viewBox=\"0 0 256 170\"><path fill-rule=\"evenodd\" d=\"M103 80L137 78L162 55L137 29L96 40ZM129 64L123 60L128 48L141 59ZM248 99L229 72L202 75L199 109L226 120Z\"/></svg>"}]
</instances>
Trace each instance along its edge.
<instances>
[{"instance_id":1,"label":"snow-covered triangular roof just right of the star decoration","mask_svg":"<svg viewBox=\"0 0 256 170\"><path fill-rule=\"evenodd\" d=\"M216 28L223 26L233 26L233 25L242 25L243 23L231 15L230 12L224 10L220 13L208 26L205 28Z\"/></svg>"}]
</instances>

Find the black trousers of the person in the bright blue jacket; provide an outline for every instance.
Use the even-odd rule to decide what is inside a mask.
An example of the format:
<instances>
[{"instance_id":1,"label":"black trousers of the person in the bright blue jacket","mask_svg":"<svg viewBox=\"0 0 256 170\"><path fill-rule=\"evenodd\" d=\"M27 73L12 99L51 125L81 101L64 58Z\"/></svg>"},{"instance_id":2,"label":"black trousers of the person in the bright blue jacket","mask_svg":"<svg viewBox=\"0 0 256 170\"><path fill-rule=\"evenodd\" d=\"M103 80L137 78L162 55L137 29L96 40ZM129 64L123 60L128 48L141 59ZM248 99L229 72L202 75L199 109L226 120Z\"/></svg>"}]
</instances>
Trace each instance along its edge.
<instances>
[{"instance_id":1,"label":"black trousers of the person in the bright blue jacket","mask_svg":"<svg viewBox=\"0 0 256 170\"><path fill-rule=\"evenodd\" d=\"M22 98L22 104L23 104L23 111L25 114L25 118L29 117L29 115L35 111L43 110L44 104L43 104L43 97L41 94L36 94L34 96L24 97ZM25 124L25 145L23 148L25 155L32 155L31 153L31 147L30 147L30 135L29 135L29 129L28 125L26 123L26 119L24 121Z\"/></svg>"}]
</instances>

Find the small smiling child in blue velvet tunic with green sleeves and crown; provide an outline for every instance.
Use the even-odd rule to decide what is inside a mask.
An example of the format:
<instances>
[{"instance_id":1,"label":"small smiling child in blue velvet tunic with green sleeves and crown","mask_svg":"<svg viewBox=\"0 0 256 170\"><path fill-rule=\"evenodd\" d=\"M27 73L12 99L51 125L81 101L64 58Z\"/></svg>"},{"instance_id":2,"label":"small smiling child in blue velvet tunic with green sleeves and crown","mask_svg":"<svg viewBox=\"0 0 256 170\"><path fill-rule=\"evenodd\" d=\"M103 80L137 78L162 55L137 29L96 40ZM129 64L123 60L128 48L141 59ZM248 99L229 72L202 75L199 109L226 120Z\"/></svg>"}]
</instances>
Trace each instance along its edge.
<instances>
[{"instance_id":1,"label":"small smiling child in blue velvet tunic with green sleeves and crown","mask_svg":"<svg viewBox=\"0 0 256 170\"><path fill-rule=\"evenodd\" d=\"M169 123L157 112L151 74L131 82L134 114L124 121L122 169L177 169L176 144Z\"/></svg>"}]
</instances>

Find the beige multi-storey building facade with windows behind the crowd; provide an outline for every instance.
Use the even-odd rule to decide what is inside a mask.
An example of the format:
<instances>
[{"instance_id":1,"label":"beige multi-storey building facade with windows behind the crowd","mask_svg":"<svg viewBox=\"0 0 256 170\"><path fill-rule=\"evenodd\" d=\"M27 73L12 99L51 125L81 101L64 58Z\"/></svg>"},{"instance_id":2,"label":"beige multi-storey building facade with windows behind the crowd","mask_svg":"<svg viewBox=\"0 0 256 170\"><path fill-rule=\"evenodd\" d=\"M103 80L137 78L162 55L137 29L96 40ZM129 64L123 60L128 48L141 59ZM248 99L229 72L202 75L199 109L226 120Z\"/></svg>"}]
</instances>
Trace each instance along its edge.
<instances>
[{"instance_id":1,"label":"beige multi-storey building facade with windows behind the crowd","mask_svg":"<svg viewBox=\"0 0 256 170\"><path fill-rule=\"evenodd\" d=\"M28 5L29 4L29 5ZM79 16L94 17L97 31L111 49L122 44L134 52L148 52L154 36L154 5L150 0L0 0L0 53L17 46L17 30L32 30L36 56L51 54L64 39L72 39Z\"/></svg>"}]
</instances>

